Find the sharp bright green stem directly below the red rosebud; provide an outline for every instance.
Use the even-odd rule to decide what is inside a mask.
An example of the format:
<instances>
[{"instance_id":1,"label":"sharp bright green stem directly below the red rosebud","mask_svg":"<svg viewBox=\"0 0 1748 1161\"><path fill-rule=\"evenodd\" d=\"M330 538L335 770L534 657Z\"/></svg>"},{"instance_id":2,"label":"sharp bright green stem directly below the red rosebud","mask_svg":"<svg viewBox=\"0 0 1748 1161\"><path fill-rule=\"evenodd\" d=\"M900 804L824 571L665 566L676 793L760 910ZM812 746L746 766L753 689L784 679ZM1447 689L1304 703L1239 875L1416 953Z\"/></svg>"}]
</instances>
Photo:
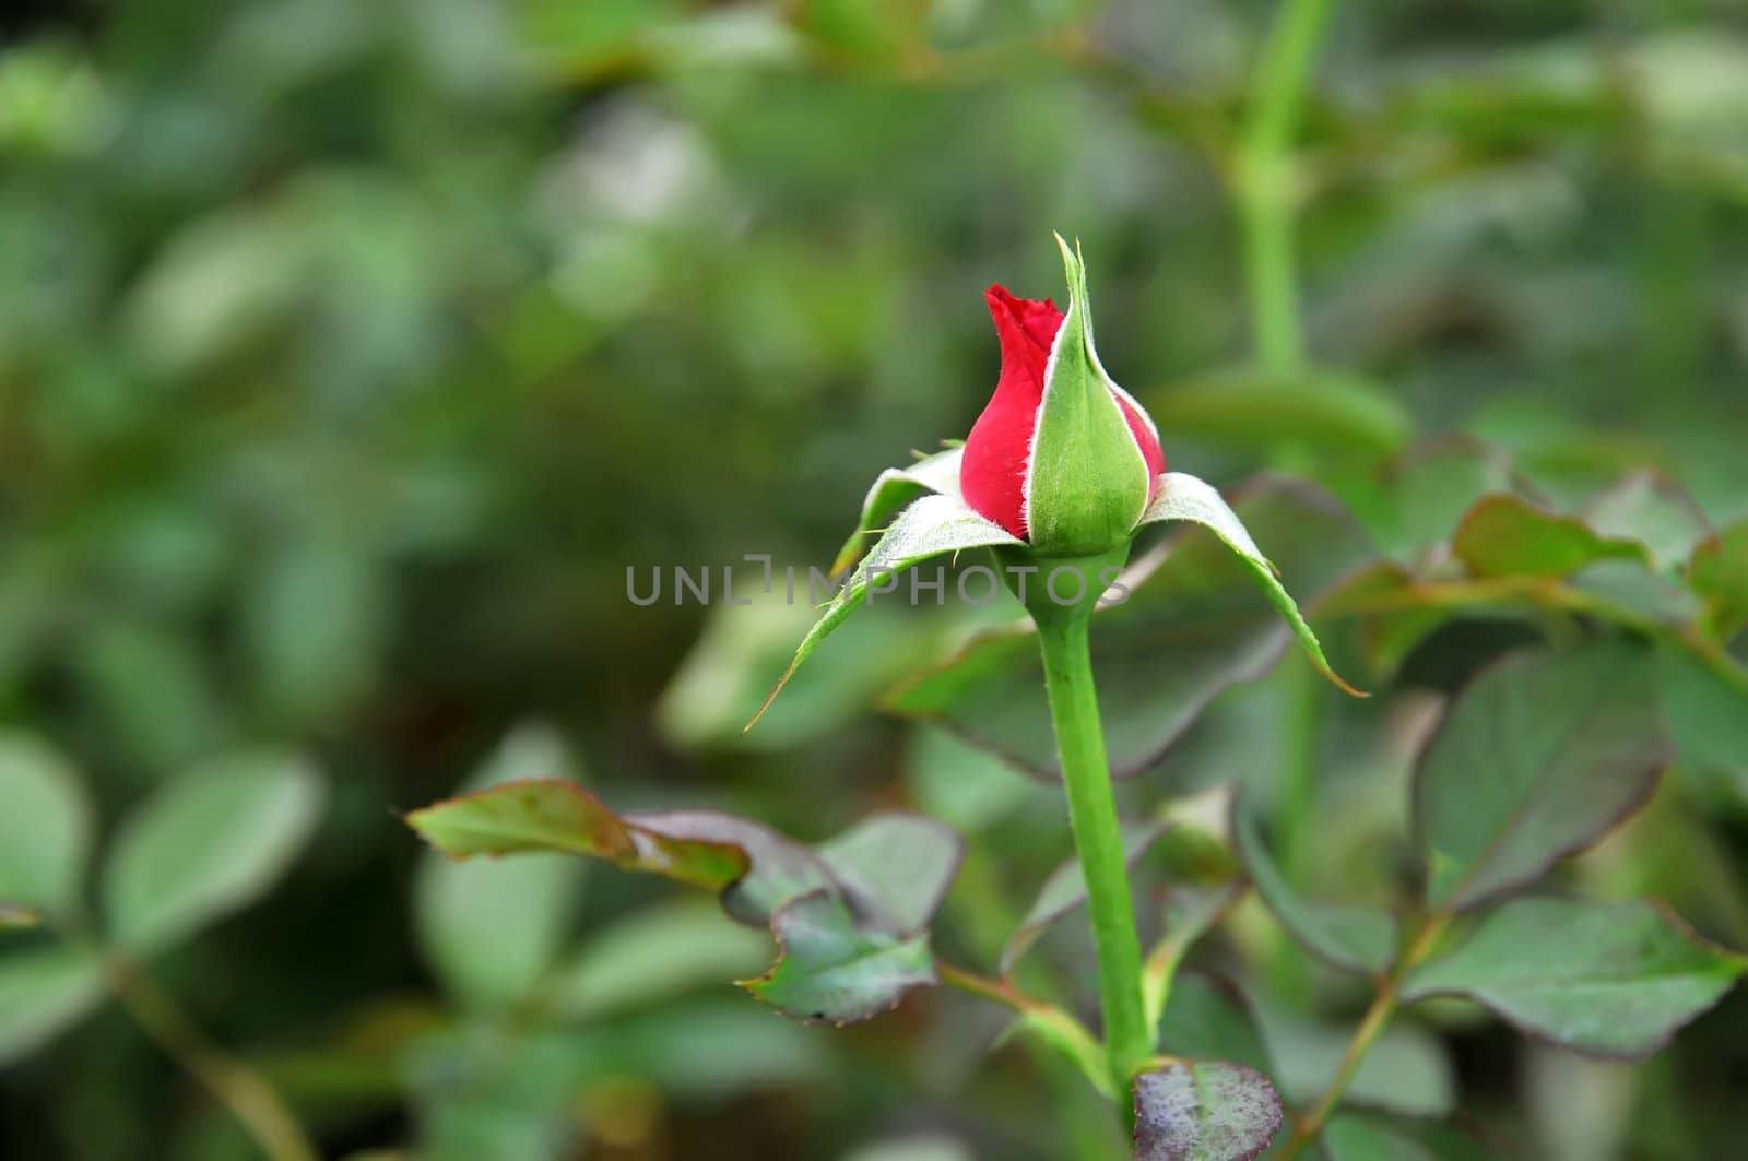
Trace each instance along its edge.
<instances>
[{"instance_id":1,"label":"sharp bright green stem directly below the red rosebud","mask_svg":"<svg viewBox=\"0 0 1748 1161\"><path fill-rule=\"evenodd\" d=\"M1051 694L1056 752L1068 792L1068 822L1087 885L1087 911L1098 951L1099 1002L1105 1014L1105 1056L1119 1093L1131 1072L1154 1051L1141 1004L1141 941L1134 934L1129 869L1117 829L1117 799L1105 759L1092 654L1087 629L1092 605L1059 607L1030 601L1044 650L1044 682Z\"/></svg>"}]
</instances>

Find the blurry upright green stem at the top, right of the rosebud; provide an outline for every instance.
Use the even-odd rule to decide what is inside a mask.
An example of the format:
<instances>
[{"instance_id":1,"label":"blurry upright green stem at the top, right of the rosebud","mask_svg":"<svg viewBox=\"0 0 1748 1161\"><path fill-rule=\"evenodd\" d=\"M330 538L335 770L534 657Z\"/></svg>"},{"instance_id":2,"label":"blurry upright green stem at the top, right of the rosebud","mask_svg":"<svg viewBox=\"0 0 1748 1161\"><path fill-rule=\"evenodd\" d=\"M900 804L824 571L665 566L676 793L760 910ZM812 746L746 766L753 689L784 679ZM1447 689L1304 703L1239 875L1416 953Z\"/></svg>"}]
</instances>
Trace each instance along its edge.
<instances>
[{"instance_id":1,"label":"blurry upright green stem at the top, right of the rosebud","mask_svg":"<svg viewBox=\"0 0 1748 1161\"><path fill-rule=\"evenodd\" d=\"M1238 201L1245 227L1257 355L1273 374L1304 364L1299 275L1294 259L1294 135L1306 77L1332 0L1281 0L1252 86L1250 121L1239 143Z\"/></svg>"}]
</instances>

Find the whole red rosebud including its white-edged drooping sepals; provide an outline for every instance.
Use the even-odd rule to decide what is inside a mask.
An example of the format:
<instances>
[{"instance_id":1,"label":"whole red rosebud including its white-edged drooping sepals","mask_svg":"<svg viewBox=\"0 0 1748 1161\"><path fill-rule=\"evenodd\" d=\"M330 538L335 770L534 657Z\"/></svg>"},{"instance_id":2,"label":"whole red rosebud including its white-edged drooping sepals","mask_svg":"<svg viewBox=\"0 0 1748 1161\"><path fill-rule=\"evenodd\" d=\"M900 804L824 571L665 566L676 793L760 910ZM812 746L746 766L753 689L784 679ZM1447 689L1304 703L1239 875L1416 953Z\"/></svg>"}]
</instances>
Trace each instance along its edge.
<instances>
[{"instance_id":1,"label":"whole red rosebud including its white-edged drooping sepals","mask_svg":"<svg viewBox=\"0 0 1748 1161\"><path fill-rule=\"evenodd\" d=\"M867 603L877 577L897 577L939 556L993 549L1009 572L1037 572L1033 558L1040 556L1052 558L1052 572L1079 568L1089 579L1080 594L1096 601L1105 593L1105 568L1120 568L1134 535L1150 525L1180 521L1208 528L1238 554L1318 673L1365 696L1328 668L1274 565L1220 491L1185 472L1166 472L1154 421L1112 383L1092 348L1086 266L1061 236L1056 245L1068 269L1068 315L1049 299L1016 299L1002 287L989 287L989 313L1002 339L995 397L963 448L886 469L869 488L862 521L832 572L841 574L858 560L862 565L802 638L753 722L820 642ZM876 533L879 540L864 558L864 544ZM1091 579L1099 586L1092 587ZM1014 593L1026 601L1033 621L1059 601L1049 584L1042 589L1016 584ZM1091 612L1094 601L1072 607Z\"/></svg>"}]
</instances>

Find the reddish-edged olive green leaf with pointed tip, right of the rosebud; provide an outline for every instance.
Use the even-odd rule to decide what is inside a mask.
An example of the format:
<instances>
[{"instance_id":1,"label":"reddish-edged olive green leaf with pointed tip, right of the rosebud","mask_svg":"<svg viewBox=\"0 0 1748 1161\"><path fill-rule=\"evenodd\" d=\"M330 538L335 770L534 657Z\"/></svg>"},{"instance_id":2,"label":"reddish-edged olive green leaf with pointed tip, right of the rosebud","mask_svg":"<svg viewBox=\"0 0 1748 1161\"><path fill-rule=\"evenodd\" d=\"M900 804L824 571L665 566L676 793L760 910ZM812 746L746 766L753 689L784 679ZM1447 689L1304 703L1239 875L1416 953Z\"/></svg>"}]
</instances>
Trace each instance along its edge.
<instances>
[{"instance_id":1,"label":"reddish-edged olive green leaf with pointed tip, right of the rosebud","mask_svg":"<svg viewBox=\"0 0 1748 1161\"><path fill-rule=\"evenodd\" d=\"M1636 540L1605 537L1575 516L1510 495L1468 509L1451 551L1481 577L1566 577L1605 560L1650 563Z\"/></svg>"}]
</instances>

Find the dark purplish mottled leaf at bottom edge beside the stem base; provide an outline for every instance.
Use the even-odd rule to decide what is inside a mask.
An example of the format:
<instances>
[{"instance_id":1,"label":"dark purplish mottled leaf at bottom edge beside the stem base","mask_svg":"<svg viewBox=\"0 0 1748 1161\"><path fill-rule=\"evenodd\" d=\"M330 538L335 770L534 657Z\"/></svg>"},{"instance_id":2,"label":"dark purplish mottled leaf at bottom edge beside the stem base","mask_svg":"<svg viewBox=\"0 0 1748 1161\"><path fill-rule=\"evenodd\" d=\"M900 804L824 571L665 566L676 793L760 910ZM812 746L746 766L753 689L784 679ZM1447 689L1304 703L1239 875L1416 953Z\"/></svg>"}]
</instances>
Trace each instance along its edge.
<instances>
[{"instance_id":1,"label":"dark purplish mottled leaf at bottom edge beside the stem base","mask_svg":"<svg viewBox=\"0 0 1748 1161\"><path fill-rule=\"evenodd\" d=\"M1281 1128L1281 1098L1255 1068L1185 1060L1134 1077L1136 1161L1250 1161Z\"/></svg>"}]
</instances>

